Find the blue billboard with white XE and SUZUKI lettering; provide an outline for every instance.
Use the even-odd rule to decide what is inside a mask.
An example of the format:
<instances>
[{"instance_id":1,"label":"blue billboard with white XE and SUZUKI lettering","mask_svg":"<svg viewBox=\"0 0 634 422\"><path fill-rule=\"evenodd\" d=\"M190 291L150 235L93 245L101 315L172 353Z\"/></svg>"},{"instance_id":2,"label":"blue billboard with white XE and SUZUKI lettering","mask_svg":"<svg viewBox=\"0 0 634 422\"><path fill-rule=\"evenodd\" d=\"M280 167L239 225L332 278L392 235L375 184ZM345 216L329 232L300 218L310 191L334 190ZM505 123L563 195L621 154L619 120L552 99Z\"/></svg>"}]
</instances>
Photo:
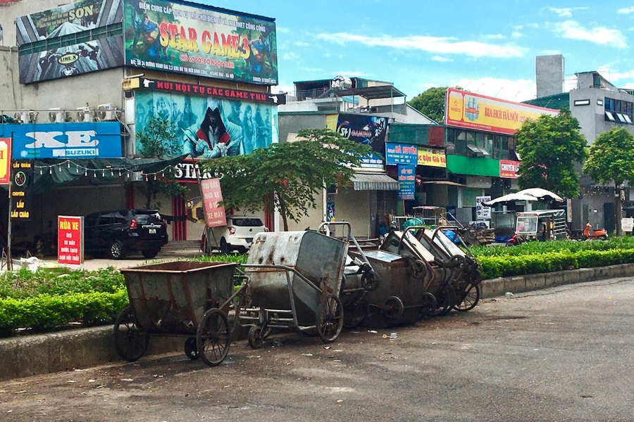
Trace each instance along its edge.
<instances>
[{"instance_id":1,"label":"blue billboard with white XE and SUZUKI lettering","mask_svg":"<svg viewBox=\"0 0 634 422\"><path fill-rule=\"evenodd\" d=\"M0 138L13 134L12 157L119 158L119 122L0 124Z\"/></svg>"}]
</instances>

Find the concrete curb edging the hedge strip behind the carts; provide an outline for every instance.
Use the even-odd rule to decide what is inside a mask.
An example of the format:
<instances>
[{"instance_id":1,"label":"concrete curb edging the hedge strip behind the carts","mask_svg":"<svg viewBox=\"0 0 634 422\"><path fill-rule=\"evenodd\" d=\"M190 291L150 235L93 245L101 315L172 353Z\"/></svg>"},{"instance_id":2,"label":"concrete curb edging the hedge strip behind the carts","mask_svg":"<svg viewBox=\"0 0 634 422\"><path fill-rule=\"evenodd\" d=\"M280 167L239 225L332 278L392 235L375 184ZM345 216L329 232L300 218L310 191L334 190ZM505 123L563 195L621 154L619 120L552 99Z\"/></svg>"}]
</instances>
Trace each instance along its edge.
<instances>
[{"instance_id":1,"label":"concrete curb edging the hedge strip behind the carts","mask_svg":"<svg viewBox=\"0 0 634 422\"><path fill-rule=\"evenodd\" d=\"M634 264L500 277L483 281L482 298L628 276L634 276ZM144 356L182 351L183 345L184 338L151 338ZM0 381L120 361L112 326L0 339Z\"/></svg>"}]
</instances>

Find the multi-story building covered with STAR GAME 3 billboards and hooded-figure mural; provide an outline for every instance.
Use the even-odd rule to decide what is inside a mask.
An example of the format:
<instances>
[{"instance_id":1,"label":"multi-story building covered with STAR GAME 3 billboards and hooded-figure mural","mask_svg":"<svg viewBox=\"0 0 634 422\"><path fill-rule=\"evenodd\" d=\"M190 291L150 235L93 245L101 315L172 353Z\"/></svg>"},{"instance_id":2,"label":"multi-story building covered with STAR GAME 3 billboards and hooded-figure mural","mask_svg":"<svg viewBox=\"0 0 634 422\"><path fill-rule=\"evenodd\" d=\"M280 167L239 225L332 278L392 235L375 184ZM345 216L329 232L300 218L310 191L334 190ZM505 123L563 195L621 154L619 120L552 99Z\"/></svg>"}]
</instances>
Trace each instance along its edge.
<instances>
[{"instance_id":1,"label":"multi-story building covered with STAR GAME 3 billboards and hooded-figure mural","mask_svg":"<svg viewBox=\"0 0 634 422\"><path fill-rule=\"evenodd\" d=\"M28 218L12 219L13 244L54 237L58 215L142 207L143 179L170 166L187 193L153 204L174 217L170 239L199 239L203 225L185 206L200 195L194 162L278 141L275 19L188 1L57 5L0 5L0 138L13 160L32 163L34 181L22 204L30 212L18 213ZM177 141L141 160L136 135L155 116Z\"/></svg>"}]
</instances>

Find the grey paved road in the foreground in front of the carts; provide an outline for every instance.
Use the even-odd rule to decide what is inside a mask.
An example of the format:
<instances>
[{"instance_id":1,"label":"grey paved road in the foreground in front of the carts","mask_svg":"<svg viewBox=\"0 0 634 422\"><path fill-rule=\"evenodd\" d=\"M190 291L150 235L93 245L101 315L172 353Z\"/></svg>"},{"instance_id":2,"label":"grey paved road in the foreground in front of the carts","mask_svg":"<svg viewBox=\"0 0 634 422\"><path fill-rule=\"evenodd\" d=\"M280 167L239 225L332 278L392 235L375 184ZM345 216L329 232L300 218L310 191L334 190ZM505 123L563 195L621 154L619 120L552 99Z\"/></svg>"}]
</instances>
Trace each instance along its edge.
<instances>
[{"instance_id":1,"label":"grey paved road in the foreground in front of the carts","mask_svg":"<svg viewBox=\"0 0 634 422\"><path fill-rule=\"evenodd\" d=\"M328 346L240 340L216 368L171 354L6 381L0 420L633 421L633 302L634 279L612 279Z\"/></svg>"}]
</instances>

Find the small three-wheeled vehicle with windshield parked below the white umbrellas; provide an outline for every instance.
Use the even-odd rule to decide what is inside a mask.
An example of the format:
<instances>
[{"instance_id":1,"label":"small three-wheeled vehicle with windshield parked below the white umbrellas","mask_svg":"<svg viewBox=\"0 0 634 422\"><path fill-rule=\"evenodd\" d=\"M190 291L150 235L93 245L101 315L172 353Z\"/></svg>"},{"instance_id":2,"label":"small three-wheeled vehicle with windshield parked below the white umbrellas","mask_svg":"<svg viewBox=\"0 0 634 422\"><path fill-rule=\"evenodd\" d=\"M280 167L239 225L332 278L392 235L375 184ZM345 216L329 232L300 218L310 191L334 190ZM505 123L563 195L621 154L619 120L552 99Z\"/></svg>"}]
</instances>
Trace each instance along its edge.
<instances>
[{"instance_id":1,"label":"small three-wheeled vehicle with windshield parked below the white umbrellas","mask_svg":"<svg viewBox=\"0 0 634 422\"><path fill-rule=\"evenodd\" d=\"M566 210L518 212L515 233L533 241L565 239Z\"/></svg>"}]
</instances>

